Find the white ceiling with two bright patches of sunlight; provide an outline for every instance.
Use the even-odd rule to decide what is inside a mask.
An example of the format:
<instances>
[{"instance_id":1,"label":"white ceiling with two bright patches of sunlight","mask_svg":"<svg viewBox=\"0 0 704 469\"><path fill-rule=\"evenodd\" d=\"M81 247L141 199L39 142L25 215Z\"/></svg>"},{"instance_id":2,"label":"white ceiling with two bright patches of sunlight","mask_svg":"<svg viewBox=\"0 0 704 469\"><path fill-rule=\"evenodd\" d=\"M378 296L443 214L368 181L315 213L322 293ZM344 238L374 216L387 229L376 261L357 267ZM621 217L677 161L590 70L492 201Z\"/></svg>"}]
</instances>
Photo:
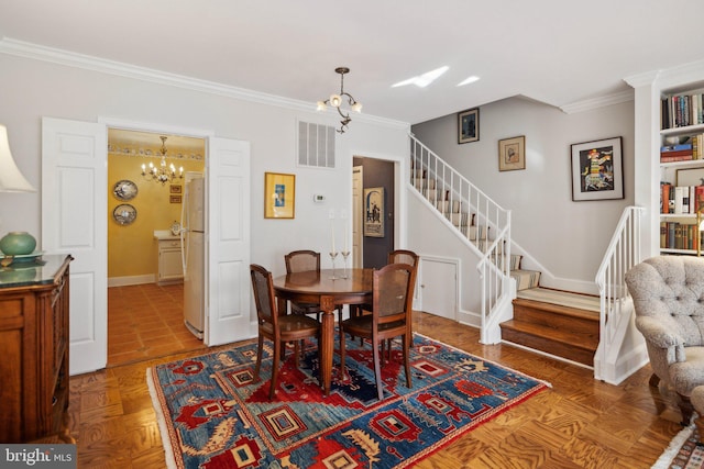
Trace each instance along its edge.
<instances>
[{"instance_id":1,"label":"white ceiling with two bright patches of sunlight","mask_svg":"<svg viewBox=\"0 0 704 469\"><path fill-rule=\"evenodd\" d=\"M410 124L514 96L564 108L704 58L702 0L0 0L0 12L4 38L311 107L346 66L364 113ZM392 87L442 66L427 88Z\"/></svg>"}]
</instances>

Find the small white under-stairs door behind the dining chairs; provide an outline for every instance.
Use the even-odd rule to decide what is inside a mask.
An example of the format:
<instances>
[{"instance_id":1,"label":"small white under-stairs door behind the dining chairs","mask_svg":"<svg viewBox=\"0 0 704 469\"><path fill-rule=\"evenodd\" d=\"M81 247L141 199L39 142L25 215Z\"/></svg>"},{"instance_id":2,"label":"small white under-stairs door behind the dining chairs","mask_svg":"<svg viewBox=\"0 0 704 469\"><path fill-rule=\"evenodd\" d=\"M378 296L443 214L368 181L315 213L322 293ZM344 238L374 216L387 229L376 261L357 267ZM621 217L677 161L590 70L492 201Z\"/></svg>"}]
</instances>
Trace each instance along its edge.
<instances>
[{"instance_id":1,"label":"small white under-stairs door behind the dining chairs","mask_svg":"<svg viewBox=\"0 0 704 469\"><path fill-rule=\"evenodd\" d=\"M458 264L452 259L421 256L418 266L421 310L457 321Z\"/></svg>"}]
</instances>

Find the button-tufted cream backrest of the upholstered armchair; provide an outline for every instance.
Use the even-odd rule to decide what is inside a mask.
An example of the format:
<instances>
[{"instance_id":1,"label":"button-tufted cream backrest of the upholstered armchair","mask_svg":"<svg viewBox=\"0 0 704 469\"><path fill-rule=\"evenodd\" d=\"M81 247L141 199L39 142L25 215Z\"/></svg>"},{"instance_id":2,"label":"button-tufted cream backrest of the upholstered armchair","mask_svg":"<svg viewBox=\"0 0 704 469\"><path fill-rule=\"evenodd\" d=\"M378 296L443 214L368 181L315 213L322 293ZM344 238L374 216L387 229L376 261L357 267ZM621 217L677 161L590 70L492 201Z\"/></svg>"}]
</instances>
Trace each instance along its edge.
<instances>
[{"instance_id":1,"label":"button-tufted cream backrest of the upholstered armchair","mask_svg":"<svg viewBox=\"0 0 704 469\"><path fill-rule=\"evenodd\" d=\"M704 345L704 258L657 256L626 272L634 300L636 326L649 316L679 334L686 346Z\"/></svg>"}]
</instances>

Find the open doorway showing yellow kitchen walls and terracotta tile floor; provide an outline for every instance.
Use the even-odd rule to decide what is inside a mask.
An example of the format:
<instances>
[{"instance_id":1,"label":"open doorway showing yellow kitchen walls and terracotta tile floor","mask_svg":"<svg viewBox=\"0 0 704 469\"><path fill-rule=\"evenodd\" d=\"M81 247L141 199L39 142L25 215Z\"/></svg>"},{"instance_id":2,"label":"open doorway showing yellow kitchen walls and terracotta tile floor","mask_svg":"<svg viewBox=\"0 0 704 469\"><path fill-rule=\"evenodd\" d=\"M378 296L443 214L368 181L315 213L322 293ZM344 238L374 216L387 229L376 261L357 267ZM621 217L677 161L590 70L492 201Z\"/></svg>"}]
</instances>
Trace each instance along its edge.
<instances>
[{"instance_id":1,"label":"open doorway showing yellow kitchen walls and terracotta tile floor","mask_svg":"<svg viewBox=\"0 0 704 469\"><path fill-rule=\"evenodd\" d=\"M109 366L204 346L184 324L180 224L205 164L204 138L108 129Z\"/></svg>"}]
</instances>

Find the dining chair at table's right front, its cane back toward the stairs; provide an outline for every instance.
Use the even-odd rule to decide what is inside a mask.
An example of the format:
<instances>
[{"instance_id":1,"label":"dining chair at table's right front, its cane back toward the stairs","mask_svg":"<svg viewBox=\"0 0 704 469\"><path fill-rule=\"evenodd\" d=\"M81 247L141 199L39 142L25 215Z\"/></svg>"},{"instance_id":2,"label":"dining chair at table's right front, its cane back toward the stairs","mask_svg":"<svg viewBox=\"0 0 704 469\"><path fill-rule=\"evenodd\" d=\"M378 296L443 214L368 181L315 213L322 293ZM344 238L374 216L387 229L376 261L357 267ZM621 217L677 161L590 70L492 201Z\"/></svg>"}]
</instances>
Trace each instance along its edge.
<instances>
[{"instance_id":1,"label":"dining chair at table's right front, its cane back toward the stairs","mask_svg":"<svg viewBox=\"0 0 704 469\"><path fill-rule=\"evenodd\" d=\"M345 372L344 334L369 338L372 342L374 377L378 400L384 398L381 371L380 345L384 340L402 337L406 387L410 388L409 328L416 268L409 264L389 264L373 272L372 311L340 323L340 370Z\"/></svg>"}]
</instances>

